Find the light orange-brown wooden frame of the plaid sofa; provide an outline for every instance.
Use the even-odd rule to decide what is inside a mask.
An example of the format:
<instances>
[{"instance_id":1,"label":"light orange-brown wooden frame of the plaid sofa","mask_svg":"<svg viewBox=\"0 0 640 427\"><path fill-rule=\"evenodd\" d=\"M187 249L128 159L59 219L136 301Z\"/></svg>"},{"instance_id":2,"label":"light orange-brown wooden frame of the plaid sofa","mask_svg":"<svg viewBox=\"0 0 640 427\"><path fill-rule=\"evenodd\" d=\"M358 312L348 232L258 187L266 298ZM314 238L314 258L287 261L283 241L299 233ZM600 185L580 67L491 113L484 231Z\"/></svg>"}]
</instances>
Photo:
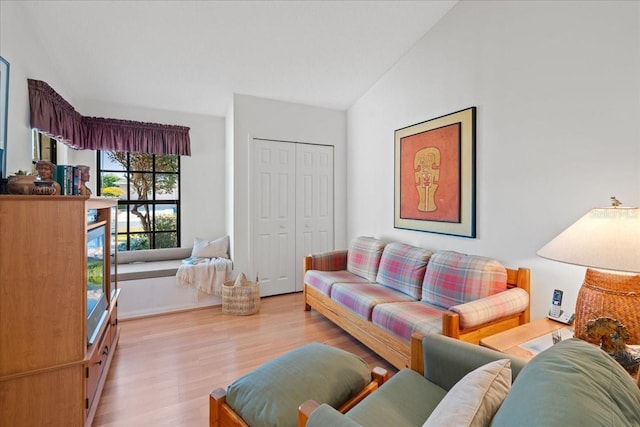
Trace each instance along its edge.
<instances>
[{"instance_id":1,"label":"light orange-brown wooden frame of the plaid sofa","mask_svg":"<svg viewBox=\"0 0 640 427\"><path fill-rule=\"evenodd\" d=\"M303 275L311 269L311 256L304 257ZM507 287L521 288L530 293L531 272L528 268L507 268ZM315 309L327 319L340 326L354 338L375 351L398 369L410 367L411 345L402 338L387 332L333 301L327 295L304 283L304 309ZM472 328L461 328L457 313L446 311L442 315L442 334L479 344L484 337L529 323L530 305L521 313L506 316Z\"/></svg>"}]
</instances>

